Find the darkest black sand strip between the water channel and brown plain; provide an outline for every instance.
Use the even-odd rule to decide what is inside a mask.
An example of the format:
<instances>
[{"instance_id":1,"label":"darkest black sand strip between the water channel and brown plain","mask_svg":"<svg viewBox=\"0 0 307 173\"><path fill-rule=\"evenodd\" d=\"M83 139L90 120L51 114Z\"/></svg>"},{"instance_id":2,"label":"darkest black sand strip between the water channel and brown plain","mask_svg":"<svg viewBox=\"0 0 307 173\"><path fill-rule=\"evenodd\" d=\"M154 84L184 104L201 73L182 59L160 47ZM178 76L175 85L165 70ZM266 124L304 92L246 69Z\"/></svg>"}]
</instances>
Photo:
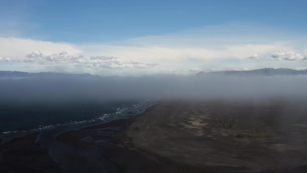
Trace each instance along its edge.
<instances>
[{"instance_id":1,"label":"darkest black sand strip between the water channel and brown plain","mask_svg":"<svg viewBox=\"0 0 307 173\"><path fill-rule=\"evenodd\" d=\"M115 164L120 172L233 172L242 168L229 166L195 166L173 161L159 154L136 148L133 140L127 136L128 128L133 122L154 110L159 103L146 109L145 112L130 117L126 124L111 137L115 145L100 146L100 154ZM133 129L138 131L138 129Z\"/></svg>"}]
</instances>

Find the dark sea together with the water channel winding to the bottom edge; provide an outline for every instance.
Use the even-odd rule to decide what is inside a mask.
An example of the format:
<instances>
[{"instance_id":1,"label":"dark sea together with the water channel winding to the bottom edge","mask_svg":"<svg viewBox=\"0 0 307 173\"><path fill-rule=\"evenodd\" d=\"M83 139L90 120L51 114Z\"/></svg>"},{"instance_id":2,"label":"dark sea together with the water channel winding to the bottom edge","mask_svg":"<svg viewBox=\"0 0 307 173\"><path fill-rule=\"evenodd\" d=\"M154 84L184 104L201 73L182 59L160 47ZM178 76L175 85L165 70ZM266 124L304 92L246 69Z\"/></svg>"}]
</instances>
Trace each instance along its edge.
<instances>
[{"instance_id":1,"label":"dark sea together with the water channel winding to the bottom edge","mask_svg":"<svg viewBox=\"0 0 307 173\"><path fill-rule=\"evenodd\" d=\"M35 143L48 149L48 154L69 172L119 172L118 168L99 154L97 148L70 145L57 136L86 126L129 118L145 111L157 101L70 102L64 104L1 104L0 145L13 138L40 132ZM109 130L114 133L118 127ZM96 145L113 145L110 139ZM74 158L74 161L70 161Z\"/></svg>"}]
</instances>

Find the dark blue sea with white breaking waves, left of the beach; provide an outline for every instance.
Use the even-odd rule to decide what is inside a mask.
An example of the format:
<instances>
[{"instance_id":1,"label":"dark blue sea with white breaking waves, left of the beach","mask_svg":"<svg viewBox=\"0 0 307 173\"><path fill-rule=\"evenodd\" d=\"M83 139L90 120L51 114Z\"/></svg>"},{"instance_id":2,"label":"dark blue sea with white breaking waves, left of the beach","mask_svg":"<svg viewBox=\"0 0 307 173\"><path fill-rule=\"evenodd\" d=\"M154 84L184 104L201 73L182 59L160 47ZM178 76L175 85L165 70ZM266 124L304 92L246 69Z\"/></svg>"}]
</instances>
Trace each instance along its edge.
<instances>
[{"instance_id":1,"label":"dark blue sea with white breaking waves, left of the beach","mask_svg":"<svg viewBox=\"0 0 307 173\"><path fill-rule=\"evenodd\" d=\"M76 123L99 123L142 106L146 101L0 105L0 134L19 133Z\"/></svg>"}]
</instances>

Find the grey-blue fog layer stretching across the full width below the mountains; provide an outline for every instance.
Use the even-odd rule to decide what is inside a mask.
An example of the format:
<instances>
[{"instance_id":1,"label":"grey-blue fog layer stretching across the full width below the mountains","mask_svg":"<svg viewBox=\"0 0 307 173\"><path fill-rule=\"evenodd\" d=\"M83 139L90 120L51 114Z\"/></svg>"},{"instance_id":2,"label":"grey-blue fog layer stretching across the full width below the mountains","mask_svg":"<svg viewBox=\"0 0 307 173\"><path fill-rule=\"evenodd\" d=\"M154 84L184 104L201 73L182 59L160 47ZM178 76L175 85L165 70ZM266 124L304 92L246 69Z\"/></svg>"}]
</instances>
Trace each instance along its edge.
<instances>
[{"instance_id":1,"label":"grey-blue fog layer stretching across the full width below the mountains","mask_svg":"<svg viewBox=\"0 0 307 173\"><path fill-rule=\"evenodd\" d=\"M0 79L2 103L131 99L304 98L307 76L24 77Z\"/></svg>"}]
</instances>

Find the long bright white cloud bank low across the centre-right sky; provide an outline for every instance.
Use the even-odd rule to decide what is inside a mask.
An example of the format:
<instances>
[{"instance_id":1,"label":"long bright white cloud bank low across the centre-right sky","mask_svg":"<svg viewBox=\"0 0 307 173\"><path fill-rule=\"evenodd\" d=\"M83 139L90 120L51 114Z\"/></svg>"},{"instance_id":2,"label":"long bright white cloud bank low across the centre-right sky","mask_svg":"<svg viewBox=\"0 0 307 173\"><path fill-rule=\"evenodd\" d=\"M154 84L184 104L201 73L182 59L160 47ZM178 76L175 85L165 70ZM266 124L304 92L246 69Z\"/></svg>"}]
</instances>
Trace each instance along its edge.
<instances>
[{"instance_id":1,"label":"long bright white cloud bank low across the centre-right sky","mask_svg":"<svg viewBox=\"0 0 307 173\"><path fill-rule=\"evenodd\" d=\"M133 61L148 61L152 63L161 63L167 61L179 62L186 58L194 58L203 61L216 59L245 59L252 52L273 52L280 49L286 49L287 46L281 42L272 42L270 44L248 44L248 45L223 45L221 42L219 48L211 48L208 45L189 46L184 42L193 42L192 40L181 40L182 46L160 45L160 46L116 46L116 45L87 45L80 47L87 54L103 54L106 56L121 57Z\"/></svg>"}]
</instances>

